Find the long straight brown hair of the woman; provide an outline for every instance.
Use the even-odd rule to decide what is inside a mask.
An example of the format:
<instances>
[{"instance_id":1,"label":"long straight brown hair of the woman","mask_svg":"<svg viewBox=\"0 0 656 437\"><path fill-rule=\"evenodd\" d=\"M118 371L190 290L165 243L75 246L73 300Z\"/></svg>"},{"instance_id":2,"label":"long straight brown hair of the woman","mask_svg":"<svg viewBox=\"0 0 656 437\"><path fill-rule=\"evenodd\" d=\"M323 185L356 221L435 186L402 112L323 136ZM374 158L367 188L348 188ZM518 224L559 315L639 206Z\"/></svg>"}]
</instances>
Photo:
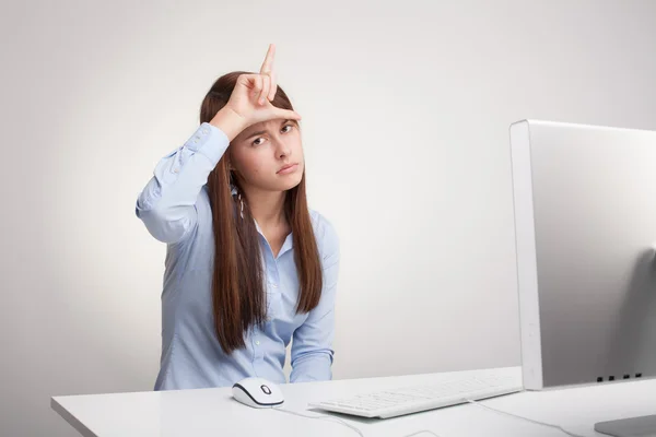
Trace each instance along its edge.
<instances>
[{"instance_id":1,"label":"long straight brown hair of the woman","mask_svg":"<svg viewBox=\"0 0 656 437\"><path fill-rule=\"evenodd\" d=\"M214 82L200 107L201 123L209 122L227 104L239 74L245 73L249 72L233 71ZM292 103L280 85L271 104L293 110ZM214 232L214 328L221 347L229 354L245 346L244 333L256 323L261 326L267 312L258 232L248 208L248 199L245 198L239 181L229 169L230 151L229 146L208 177ZM239 215L241 205L236 209L237 197L231 193L231 184L242 193L244 220ZM286 191L284 213L292 227L294 261L298 275L296 312L308 312L319 303L323 274L307 208L305 170L301 182Z\"/></svg>"}]
</instances>

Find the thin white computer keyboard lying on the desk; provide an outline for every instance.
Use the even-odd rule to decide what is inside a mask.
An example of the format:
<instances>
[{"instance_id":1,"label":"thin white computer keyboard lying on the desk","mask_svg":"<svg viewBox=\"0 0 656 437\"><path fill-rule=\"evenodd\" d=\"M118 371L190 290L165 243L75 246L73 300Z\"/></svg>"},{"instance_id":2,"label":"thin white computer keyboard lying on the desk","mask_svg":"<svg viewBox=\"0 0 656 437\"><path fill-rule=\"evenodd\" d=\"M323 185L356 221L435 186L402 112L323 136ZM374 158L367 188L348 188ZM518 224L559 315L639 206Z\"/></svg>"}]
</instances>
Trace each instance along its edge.
<instances>
[{"instance_id":1,"label":"thin white computer keyboard lying on the desk","mask_svg":"<svg viewBox=\"0 0 656 437\"><path fill-rule=\"evenodd\" d=\"M524 387L520 377L490 373L476 377L455 377L430 386L382 390L344 399L312 402L308 405L337 413L387 418L522 390Z\"/></svg>"}]
</instances>

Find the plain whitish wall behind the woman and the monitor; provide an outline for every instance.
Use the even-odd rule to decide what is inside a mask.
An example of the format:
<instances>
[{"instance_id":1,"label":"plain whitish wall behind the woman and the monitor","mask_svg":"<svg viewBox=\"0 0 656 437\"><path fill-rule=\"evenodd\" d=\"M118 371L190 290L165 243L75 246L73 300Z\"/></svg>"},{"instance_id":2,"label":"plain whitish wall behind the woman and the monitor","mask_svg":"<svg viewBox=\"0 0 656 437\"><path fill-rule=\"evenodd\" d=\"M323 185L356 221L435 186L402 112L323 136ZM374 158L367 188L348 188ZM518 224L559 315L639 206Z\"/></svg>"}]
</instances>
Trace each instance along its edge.
<instances>
[{"instance_id":1,"label":"plain whitish wall behind the woman and the monitor","mask_svg":"<svg viewBox=\"0 0 656 437\"><path fill-rule=\"evenodd\" d=\"M165 245L134 201L269 43L341 238L336 379L519 365L509 123L656 129L647 0L15 1L0 24L7 436L75 436L51 395L152 390Z\"/></svg>"}]
</instances>

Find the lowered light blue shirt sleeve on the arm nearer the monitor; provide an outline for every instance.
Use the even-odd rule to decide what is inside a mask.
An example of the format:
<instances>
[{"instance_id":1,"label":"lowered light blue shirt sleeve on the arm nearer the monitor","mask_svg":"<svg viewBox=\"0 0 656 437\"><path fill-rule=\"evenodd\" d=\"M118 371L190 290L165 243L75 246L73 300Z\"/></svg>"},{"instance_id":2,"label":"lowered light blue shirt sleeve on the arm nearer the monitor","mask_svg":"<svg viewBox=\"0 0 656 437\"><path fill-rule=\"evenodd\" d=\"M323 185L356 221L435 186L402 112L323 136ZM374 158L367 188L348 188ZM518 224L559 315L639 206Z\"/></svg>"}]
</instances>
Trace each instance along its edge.
<instances>
[{"instance_id":1,"label":"lowered light blue shirt sleeve on the arm nearer the monitor","mask_svg":"<svg viewBox=\"0 0 656 437\"><path fill-rule=\"evenodd\" d=\"M339 276L339 239L330 223L325 222L323 255L324 286L319 304L309 311L292 341L290 382L330 380L332 378L332 340L335 338L335 296Z\"/></svg>"}]
</instances>

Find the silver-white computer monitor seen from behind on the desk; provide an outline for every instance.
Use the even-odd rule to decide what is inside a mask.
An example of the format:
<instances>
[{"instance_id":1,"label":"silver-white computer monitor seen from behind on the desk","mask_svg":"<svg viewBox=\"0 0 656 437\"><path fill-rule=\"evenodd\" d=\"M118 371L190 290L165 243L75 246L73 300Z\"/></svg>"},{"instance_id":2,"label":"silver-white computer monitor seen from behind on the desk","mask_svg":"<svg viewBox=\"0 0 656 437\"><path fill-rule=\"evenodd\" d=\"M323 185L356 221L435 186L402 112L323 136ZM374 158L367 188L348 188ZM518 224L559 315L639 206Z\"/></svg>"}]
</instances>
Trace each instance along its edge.
<instances>
[{"instance_id":1,"label":"silver-white computer monitor seen from behind on the desk","mask_svg":"<svg viewBox=\"0 0 656 437\"><path fill-rule=\"evenodd\" d=\"M525 388L656 377L656 132L509 135Z\"/></svg>"}]
</instances>

